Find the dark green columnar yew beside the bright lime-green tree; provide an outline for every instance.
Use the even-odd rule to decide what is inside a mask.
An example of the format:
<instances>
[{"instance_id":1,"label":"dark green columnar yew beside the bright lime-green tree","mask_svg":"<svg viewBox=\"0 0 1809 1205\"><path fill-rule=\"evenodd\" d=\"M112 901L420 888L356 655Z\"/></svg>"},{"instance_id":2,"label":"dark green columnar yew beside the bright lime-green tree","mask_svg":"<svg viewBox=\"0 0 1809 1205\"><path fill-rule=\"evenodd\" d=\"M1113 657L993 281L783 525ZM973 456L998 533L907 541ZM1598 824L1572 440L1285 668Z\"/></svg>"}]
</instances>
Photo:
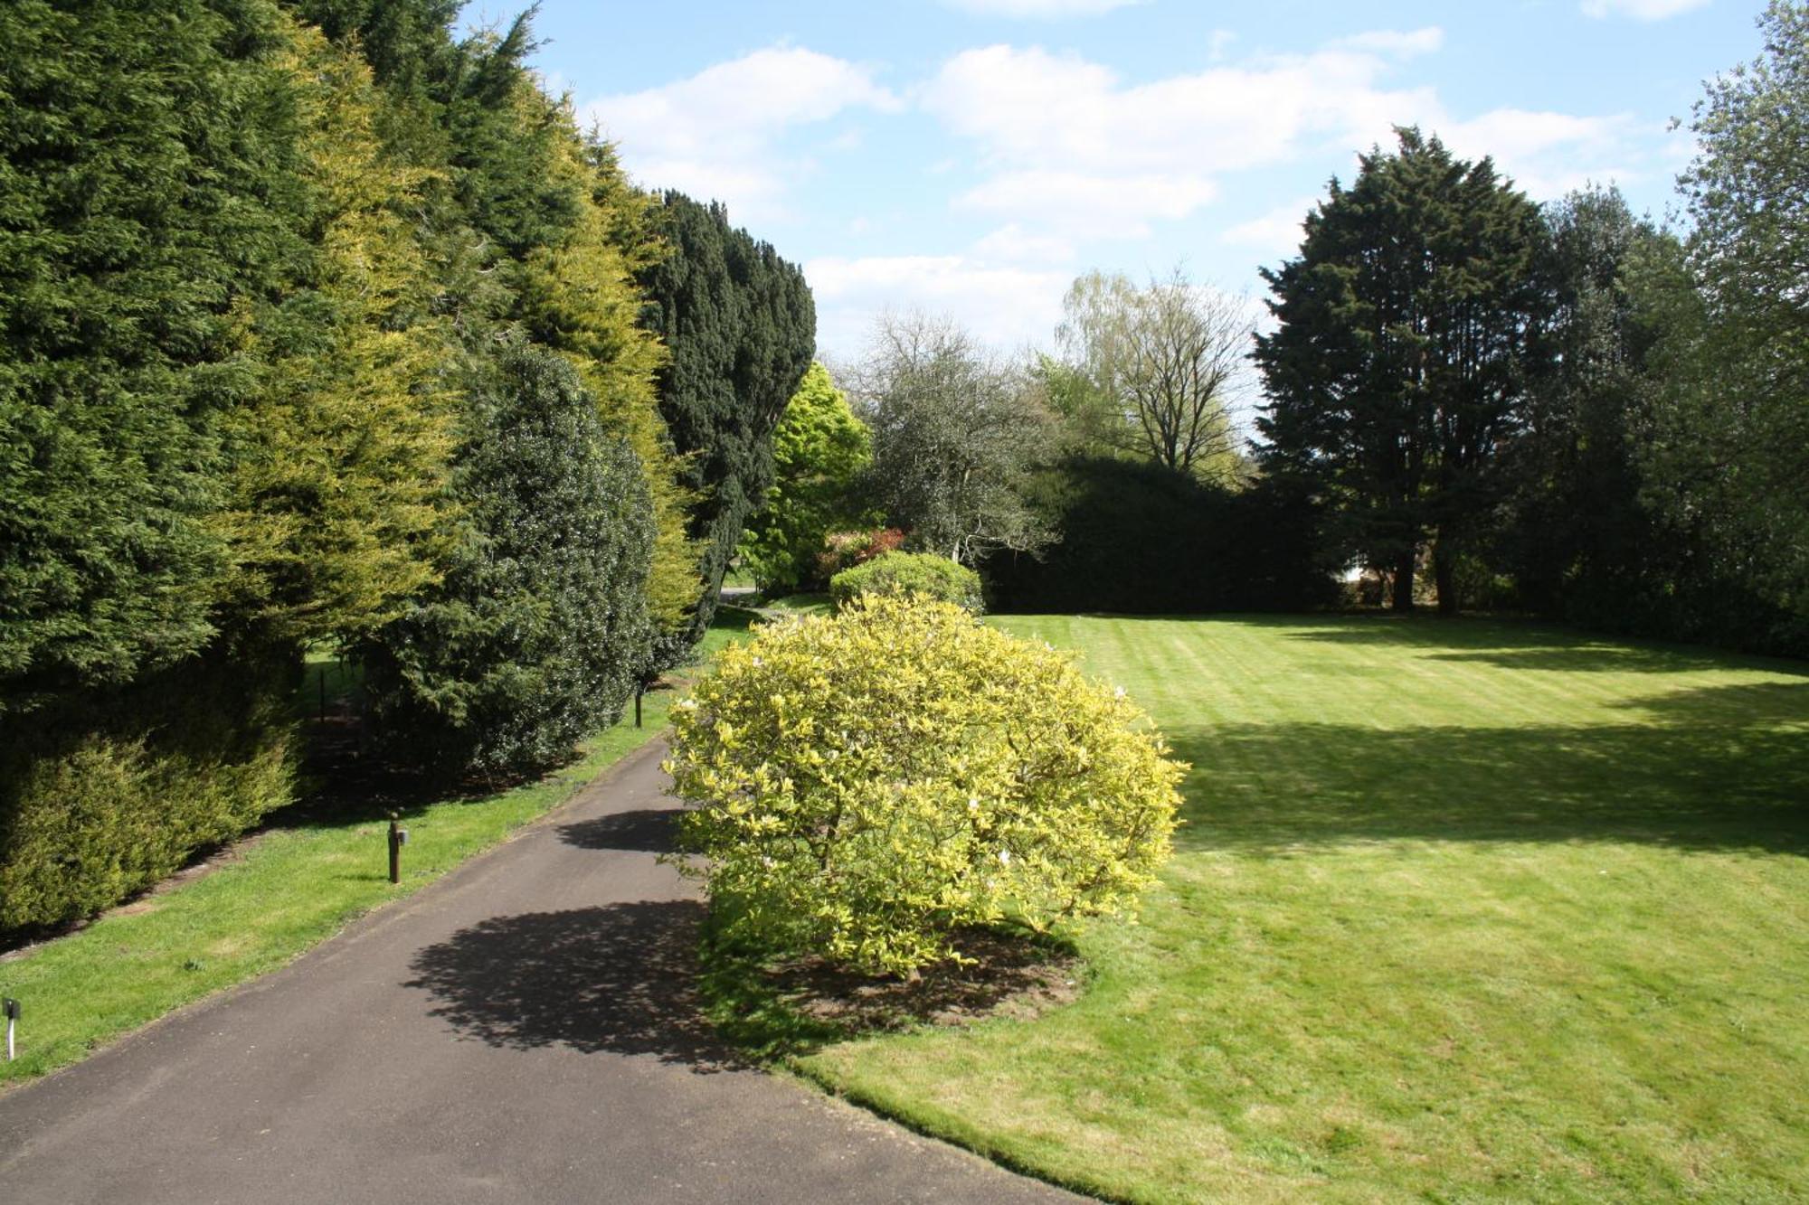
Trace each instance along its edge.
<instances>
[{"instance_id":1,"label":"dark green columnar yew beside the bright lime-green tree","mask_svg":"<svg viewBox=\"0 0 1809 1205\"><path fill-rule=\"evenodd\" d=\"M671 349L660 414L698 503L702 590L691 626L664 640L671 664L702 639L742 525L772 485L772 431L816 349L816 304L796 264L729 226L720 204L669 192L657 213L669 253L640 273L648 326Z\"/></svg>"}]
</instances>

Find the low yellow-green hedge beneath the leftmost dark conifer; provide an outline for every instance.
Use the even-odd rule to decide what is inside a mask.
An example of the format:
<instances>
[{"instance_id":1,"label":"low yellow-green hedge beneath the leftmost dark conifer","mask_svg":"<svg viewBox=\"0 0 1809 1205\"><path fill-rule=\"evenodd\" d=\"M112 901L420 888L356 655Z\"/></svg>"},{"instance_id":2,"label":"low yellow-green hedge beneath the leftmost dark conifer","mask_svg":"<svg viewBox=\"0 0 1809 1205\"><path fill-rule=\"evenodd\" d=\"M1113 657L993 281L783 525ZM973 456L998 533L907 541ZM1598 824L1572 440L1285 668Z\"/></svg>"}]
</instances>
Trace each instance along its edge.
<instances>
[{"instance_id":1,"label":"low yellow-green hedge beneath the leftmost dark conifer","mask_svg":"<svg viewBox=\"0 0 1809 1205\"><path fill-rule=\"evenodd\" d=\"M9 722L0 747L0 934L109 908L291 800L288 653L190 659Z\"/></svg>"}]
</instances>

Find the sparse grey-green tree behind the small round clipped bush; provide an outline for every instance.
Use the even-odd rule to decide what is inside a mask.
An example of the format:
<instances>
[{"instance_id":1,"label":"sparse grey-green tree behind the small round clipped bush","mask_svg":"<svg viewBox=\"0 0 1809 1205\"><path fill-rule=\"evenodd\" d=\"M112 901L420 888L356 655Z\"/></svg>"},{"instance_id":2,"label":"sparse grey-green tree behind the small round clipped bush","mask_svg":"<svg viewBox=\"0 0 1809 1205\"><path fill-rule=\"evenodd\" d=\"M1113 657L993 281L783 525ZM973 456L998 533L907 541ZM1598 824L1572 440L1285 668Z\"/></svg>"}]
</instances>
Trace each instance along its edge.
<instances>
[{"instance_id":1,"label":"sparse grey-green tree behind the small round clipped bush","mask_svg":"<svg viewBox=\"0 0 1809 1205\"><path fill-rule=\"evenodd\" d=\"M948 318L888 315L848 382L874 432L876 492L912 543L973 565L1053 539L1022 487L1055 420L1020 367Z\"/></svg>"}]
</instances>

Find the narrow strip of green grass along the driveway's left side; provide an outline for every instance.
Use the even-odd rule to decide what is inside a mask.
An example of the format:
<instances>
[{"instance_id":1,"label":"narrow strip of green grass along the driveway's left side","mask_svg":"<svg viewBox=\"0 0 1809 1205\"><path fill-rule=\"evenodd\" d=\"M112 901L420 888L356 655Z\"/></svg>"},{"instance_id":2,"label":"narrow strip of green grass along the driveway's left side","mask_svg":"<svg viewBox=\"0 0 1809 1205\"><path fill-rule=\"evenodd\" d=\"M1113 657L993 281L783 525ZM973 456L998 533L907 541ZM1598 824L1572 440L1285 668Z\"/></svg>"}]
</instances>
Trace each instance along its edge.
<instances>
[{"instance_id":1,"label":"narrow strip of green grass along the driveway's left side","mask_svg":"<svg viewBox=\"0 0 1809 1205\"><path fill-rule=\"evenodd\" d=\"M749 615L724 608L698 659L745 630ZM304 711L347 686L322 655L302 688ZM362 816L280 823L223 859L219 868L156 892L69 937L0 961L0 993L24 1006L16 1062L0 1062L0 1091L83 1058L174 1008L289 963L353 919L409 896L470 856L568 800L604 767L666 726L677 691L648 693L599 733L584 758L541 782L479 800L441 800L403 812L409 845L402 883L389 883L387 821Z\"/></svg>"}]
</instances>

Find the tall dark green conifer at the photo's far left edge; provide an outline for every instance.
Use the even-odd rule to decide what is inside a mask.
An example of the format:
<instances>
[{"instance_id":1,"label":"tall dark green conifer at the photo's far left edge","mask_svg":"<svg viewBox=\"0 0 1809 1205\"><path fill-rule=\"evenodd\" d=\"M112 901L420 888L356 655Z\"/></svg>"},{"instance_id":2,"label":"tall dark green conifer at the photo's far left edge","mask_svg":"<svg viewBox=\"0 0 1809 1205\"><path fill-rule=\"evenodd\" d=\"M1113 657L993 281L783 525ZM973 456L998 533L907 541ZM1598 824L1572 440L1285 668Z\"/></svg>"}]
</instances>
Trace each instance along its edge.
<instances>
[{"instance_id":1,"label":"tall dark green conifer at the photo's far left edge","mask_svg":"<svg viewBox=\"0 0 1809 1205\"><path fill-rule=\"evenodd\" d=\"M0 5L0 707L215 633L221 418L306 255L275 9Z\"/></svg>"}]
</instances>

